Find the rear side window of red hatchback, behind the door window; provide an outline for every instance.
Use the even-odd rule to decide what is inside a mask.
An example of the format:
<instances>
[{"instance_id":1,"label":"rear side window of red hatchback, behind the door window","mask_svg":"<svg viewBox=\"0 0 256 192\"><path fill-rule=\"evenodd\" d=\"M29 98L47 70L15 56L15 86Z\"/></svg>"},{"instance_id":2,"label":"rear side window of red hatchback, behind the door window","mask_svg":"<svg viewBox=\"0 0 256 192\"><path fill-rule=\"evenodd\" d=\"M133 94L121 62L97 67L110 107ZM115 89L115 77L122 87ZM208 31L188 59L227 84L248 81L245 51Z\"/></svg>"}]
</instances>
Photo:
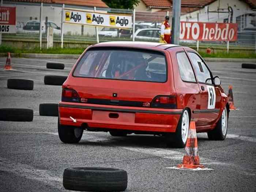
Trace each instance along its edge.
<instances>
[{"instance_id":1,"label":"rear side window of red hatchback, behind the door window","mask_svg":"<svg viewBox=\"0 0 256 192\"><path fill-rule=\"evenodd\" d=\"M196 82L196 78L185 52L176 54L181 79L188 82Z\"/></svg>"}]
</instances>

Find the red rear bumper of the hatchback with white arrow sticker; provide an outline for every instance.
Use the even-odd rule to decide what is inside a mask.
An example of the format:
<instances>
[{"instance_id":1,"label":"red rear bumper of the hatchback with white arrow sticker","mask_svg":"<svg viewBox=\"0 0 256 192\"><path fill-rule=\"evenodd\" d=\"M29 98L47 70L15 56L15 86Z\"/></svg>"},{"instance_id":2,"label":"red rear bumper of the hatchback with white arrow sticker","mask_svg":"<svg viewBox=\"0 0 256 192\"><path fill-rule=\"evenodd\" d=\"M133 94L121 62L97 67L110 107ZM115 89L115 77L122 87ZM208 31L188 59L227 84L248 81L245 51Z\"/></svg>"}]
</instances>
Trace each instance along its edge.
<instances>
[{"instance_id":1,"label":"red rear bumper of the hatchback with white arrow sticker","mask_svg":"<svg viewBox=\"0 0 256 192\"><path fill-rule=\"evenodd\" d=\"M110 113L118 114L118 118L110 118ZM181 113L182 109L144 109L84 103L59 103L61 125L80 127L86 123L89 128L97 129L175 132Z\"/></svg>"}]
</instances>

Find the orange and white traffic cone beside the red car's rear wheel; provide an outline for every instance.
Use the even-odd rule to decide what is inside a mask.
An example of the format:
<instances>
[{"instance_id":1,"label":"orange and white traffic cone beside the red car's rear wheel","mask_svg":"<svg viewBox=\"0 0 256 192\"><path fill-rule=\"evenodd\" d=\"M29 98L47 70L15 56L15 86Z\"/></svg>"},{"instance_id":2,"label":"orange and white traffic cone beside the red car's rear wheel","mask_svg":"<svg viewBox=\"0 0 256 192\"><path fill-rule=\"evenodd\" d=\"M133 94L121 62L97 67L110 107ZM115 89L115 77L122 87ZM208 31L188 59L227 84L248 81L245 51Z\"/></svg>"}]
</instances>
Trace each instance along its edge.
<instances>
[{"instance_id":1,"label":"orange and white traffic cone beside the red car's rear wheel","mask_svg":"<svg viewBox=\"0 0 256 192\"><path fill-rule=\"evenodd\" d=\"M185 155L183 157L182 164L178 165L178 168L204 168L199 163L199 154L197 149L197 138L196 138L196 124L195 121L191 121L189 126L188 140L185 147Z\"/></svg>"}]
</instances>

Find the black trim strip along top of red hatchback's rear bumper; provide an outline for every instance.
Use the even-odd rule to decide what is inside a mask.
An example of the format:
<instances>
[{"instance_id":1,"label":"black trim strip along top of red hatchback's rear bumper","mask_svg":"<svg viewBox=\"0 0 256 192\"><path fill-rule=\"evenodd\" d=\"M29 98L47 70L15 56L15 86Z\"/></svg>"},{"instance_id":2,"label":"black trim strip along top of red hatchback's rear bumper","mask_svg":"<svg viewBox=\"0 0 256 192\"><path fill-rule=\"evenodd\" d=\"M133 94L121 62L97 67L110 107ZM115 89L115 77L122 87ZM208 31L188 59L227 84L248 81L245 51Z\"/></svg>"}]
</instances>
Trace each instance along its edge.
<instances>
[{"instance_id":1,"label":"black trim strip along top of red hatchback's rear bumper","mask_svg":"<svg viewBox=\"0 0 256 192\"><path fill-rule=\"evenodd\" d=\"M151 110L137 110L137 109L116 109L116 108L103 108L103 107L92 107L92 106L79 106L79 105L66 105L59 104L59 107L68 108L80 108L80 109L93 109L97 111L114 111L114 112L130 112L130 113L156 113L156 114L181 114L182 110L179 111L151 111Z\"/></svg>"}]
</instances>

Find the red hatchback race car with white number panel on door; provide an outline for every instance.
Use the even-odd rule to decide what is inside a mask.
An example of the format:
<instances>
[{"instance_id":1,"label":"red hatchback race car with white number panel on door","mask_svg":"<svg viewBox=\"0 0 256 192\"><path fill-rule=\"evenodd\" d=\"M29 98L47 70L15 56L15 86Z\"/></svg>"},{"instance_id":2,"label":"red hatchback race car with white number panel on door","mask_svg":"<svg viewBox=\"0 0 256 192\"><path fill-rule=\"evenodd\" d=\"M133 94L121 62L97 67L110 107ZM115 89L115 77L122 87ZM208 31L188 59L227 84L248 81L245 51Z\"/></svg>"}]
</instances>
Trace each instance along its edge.
<instances>
[{"instance_id":1,"label":"red hatchback race car with white number panel on door","mask_svg":"<svg viewBox=\"0 0 256 192\"><path fill-rule=\"evenodd\" d=\"M154 134L184 147L190 121L209 139L224 140L229 105L193 49L152 42L104 42L89 46L63 84L59 138L80 141L83 130L112 136Z\"/></svg>"}]
</instances>

